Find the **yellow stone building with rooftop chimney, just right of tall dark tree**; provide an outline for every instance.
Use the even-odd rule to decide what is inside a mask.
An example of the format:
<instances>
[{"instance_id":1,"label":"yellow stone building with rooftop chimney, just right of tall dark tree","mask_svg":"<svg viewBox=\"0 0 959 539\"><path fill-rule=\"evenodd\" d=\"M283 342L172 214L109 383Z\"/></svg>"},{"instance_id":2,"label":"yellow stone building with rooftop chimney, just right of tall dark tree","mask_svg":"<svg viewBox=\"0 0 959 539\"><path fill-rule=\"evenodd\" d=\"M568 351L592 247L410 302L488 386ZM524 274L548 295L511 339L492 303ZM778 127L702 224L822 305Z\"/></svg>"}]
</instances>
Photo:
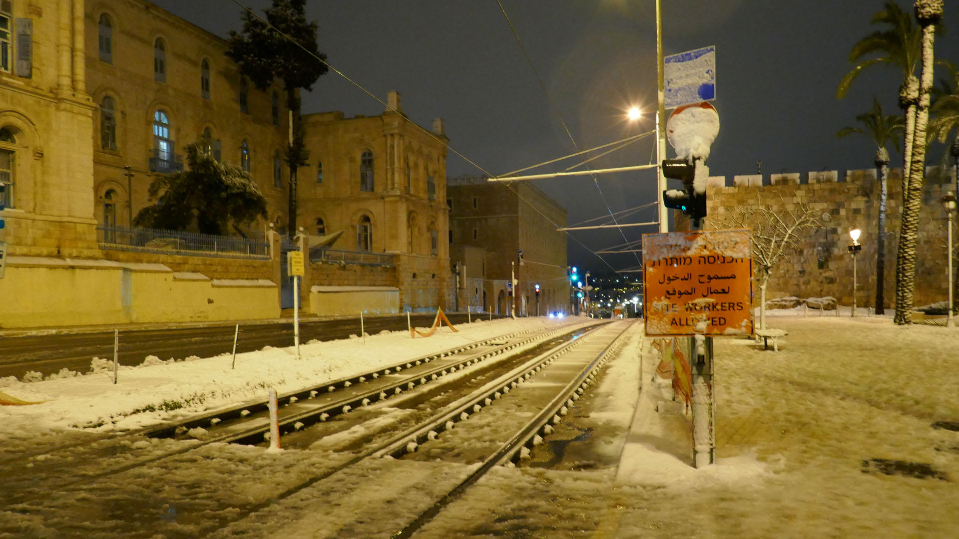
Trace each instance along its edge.
<instances>
[{"instance_id":1,"label":"yellow stone building with rooftop chimney, just right of tall dark tree","mask_svg":"<svg viewBox=\"0 0 959 539\"><path fill-rule=\"evenodd\" d=\"M310 165L299 175L297 223L343 231L334 249L393 255L403 310L448 308L450 287L443 121L420 129L389 92L378 116L303 116ZM394 112L395 110L395 112Z\"/></svg>"}]
</instances>

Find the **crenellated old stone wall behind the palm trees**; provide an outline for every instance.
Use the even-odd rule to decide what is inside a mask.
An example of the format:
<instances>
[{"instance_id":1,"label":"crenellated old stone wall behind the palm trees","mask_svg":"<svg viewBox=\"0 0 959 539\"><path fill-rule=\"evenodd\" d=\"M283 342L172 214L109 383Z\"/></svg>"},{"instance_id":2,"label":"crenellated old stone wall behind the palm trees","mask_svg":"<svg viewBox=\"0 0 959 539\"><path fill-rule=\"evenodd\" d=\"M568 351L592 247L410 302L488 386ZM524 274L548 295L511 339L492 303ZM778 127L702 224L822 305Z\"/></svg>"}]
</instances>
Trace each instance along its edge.
<instances>
[{"instance_id":1,"label":"crenellated old stone wall behind the palm trees","mask_svg":"<svg viewBox=\"0 0 959 539\"><path fill-rule=\"evenodd\" d=\"M930 171L931 172L931 171ZM800 249L790 251L773 270L767 299L786 295L814 297L832 295L840 303L853 301L853 258L847 250L849 231L862 230L862 251L856 256L859 306L875 306L877 262L877 217L879 183L875 170L847 171L838 181L836 171L809 173L806 183L799 175L777 176L774 185L755 181L724 185L721 176L711 178L707 193L707 226L718 227L729 208L762 204L784 211L802 203L814 210L819 223L800 241ZM928 174L924 184L923 209L919 227L915 305L941 301L947 297L946 213L940 199L951 187L947 176ZM887 181L885 306L894 306L896 290L896 252L902 212L901 170L893 169ZM678 212L677 212L678 213ZM684 229L679 214L676 228ZM758 291L758 289L757 289ZM758 292L757 301L758 301Z\"/></svg>"}]
</instances>

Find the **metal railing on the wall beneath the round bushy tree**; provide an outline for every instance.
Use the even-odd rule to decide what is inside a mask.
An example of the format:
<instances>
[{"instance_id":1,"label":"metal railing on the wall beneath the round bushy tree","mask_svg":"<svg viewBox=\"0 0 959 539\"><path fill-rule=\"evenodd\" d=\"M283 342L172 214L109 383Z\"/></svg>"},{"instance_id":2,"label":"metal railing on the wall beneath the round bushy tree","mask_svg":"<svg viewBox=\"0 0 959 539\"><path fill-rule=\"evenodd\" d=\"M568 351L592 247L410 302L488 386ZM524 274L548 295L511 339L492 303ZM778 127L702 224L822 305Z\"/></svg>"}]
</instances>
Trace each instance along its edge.
<instances>
[{"instance_id":1,"label":"metal railing on the wall beneath the round bushy tree","mask_svg":"<svg viewBox=\"0 0 959 539\"><path fill-rule=\"evenodd\" d=\"M215 236L159 228L130 229L123 225L99 225L97 243L100 248L107 250L269 259L269 243L263 232L248 232L245 238L239 235Z\"/></svg>"}]
</instances>

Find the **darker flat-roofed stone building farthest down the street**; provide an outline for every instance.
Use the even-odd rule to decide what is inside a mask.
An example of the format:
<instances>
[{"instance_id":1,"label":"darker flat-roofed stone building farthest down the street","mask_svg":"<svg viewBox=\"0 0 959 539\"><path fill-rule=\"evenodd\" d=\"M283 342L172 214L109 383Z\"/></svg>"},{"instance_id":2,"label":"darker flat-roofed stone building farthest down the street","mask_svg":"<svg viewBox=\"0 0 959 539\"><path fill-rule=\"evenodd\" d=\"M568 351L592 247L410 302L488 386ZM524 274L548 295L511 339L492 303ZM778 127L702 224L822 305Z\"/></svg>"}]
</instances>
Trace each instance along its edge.
<instances>
[{"instance_id":1,"label":"darker flat-roofed stone building farthest down the street","mask_svg":"<svg viewBox=\"0 0 959 539\"><path fill-rule=\"evenodd\" d=\"M466 266L457 299L483 311L506 314L506 285L514 263L516 313L567 312L566 208L529 182L490 183L485 177L447 179L450 260ZM523 251L523 264L519 253ZM462 308L460 308L462 309Z\"/></svg>"}]
</instances>

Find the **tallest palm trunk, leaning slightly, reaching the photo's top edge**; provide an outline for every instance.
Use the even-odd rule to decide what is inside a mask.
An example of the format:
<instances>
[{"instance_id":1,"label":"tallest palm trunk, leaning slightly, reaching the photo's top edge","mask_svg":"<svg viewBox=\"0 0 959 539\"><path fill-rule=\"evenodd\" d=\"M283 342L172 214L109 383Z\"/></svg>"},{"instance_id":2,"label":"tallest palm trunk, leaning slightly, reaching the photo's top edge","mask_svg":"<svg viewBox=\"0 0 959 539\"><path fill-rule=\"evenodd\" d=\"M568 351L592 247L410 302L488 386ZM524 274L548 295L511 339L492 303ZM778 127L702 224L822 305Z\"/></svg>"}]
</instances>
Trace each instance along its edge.
<instances>
[{"instance_id":1,"label":"tallest palm trunk, leaning slightly, reaching the photo's top edge","mask_svg":"<svg viewBox=\"0 0 959 539\"><path fill-rule=\"evenodd\" d=\"M933 41L936 25L943 17L943 0L916 0L916 20L923 28L923 72L916 106L916 127L913 130L909 180L903 195L899 252L896 259L897 324L912 323L912 295L916 284L916 246L918 244L919 211L923 206L925 174L925 131L929 121L929 100L933 82ZM907 137L908 138L908 137Z\"/></svg>"}]
</instances>

